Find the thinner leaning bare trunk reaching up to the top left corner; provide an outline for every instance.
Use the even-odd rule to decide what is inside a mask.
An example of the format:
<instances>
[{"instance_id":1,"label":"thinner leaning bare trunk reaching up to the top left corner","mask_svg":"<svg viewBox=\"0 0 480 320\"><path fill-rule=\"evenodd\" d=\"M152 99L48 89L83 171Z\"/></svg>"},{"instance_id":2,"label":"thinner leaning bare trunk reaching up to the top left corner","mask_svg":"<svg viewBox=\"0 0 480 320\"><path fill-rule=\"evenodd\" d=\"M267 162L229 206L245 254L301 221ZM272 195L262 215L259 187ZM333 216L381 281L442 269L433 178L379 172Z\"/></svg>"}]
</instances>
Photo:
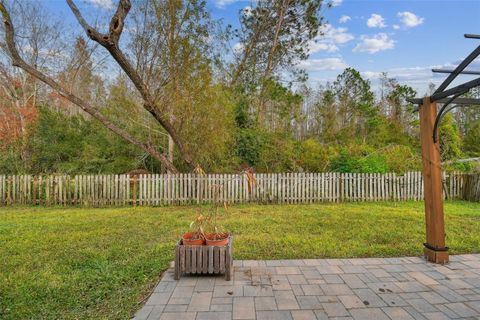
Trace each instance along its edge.
<instances>
[{"instance_id":1,"label":"thinner leaning bare trunk reaching up to the top left corner","mask_svg":"<svg viewBox=\"0 0 480 320\"><path fill-rule=\"evenodd\" d=\"M128 2L128 1L121 1L121 2ZM13 27L10 15L9 15L3 1L0 1L0 11L2 13L3 24L5 26L5 40L6 40L8 51L10 53L10 57L12 59L12 65L13 66L19 67L19 68L25 70L28 74L32 75L33 77L35 77L35 78L39 79L40 81L49 85L52 89L56 90L62 97L71 101L73 104L77 105L82 110L84 110L85 112L90 114L92 117L94 117L95 119L100 121L109 130L111 130L112 132L116 133L118 136L122 137L123 139L129 141L130 143L142 148L144 151L151 154L154 158L156 158L157 160L162 162L170 172L174 172L174 173L178 172L178 170L175 168L175 166L170 161L168 161L168 159L163 154L161 154L157 150L155 150L155 148L153 148L149 144L145 144L145 143L137 140L136 138L131 136L128 132L118 128L112 122L110 122L110 120L108 118L106 118L98 110L96 110L94 107L92 107L88 102L86 102L83 99L75 96L69 90L67 90L65 87L63 87L58 82L56 82L53 78L43 74L42 72L38 71L36 68L34 68L31 65L29 65L28 63L26 63L25 60L23 60L22 57L20 56L20 54L18 53L16 44L15 44L14 27ZM128 10L127 10L127 12L128 12ZM123 13L119 14L119 19L122 19L121 18L122 14ZM126 15L126 13L125 13L125 15ZM124 17L125 16L123 16L123 19L124 19ZM123 25L123 22L119 22L119 25L120 24ZM117 26L117 29L115 29L115 30L118 31L119 25ZM114 25L114 27L115 27L115 25ZM114 30L113 34L116 34L117 31L115 31L115 30ZM96 31L93 31L93 32L95 32L96 35L99 34ZM119 36L120 36L120 34L115 35L115 37L118 37L118 38L119 38ZM118 39L118 38L114 38L114 39Z\"/></svg>"}]
</instances>

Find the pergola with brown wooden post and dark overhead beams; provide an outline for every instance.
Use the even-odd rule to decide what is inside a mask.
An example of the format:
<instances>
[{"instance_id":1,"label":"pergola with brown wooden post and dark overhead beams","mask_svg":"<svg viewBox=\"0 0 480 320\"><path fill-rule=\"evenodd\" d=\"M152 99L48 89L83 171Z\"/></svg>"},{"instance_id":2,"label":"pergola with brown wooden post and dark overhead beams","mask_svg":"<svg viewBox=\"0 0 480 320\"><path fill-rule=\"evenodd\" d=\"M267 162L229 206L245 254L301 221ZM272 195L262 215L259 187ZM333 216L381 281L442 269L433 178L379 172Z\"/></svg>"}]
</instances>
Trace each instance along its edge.
<instances>
[{"instance_id":1,"label":"pergola with brown wooden post and dark overhead beams","mask_svg":"<svg viewBox=\"0 0 480 320\"><path fill-rule=\"evenodd\" d=\"M480 35L465 34L468 39L480 39ZM480 55L480 46L472 51L454 70L433 69L436 73L447 73L448 77L435 90L424 98L410 99L417 104L420 113L420 139L422 144L422 164L425 194L425 223L427 241L424 255L434 263L448 262L448 247L445 245L445 222L443 212L442 168L438 126L442 117L452 109L480 104L480 99L462 98L470 89L480 86L480 77L449 88L460 75L478 75L480 70L465 70ZM437 104L442 104L437 110ZM452 105L451 107L449 107Z\"/></svg>"}]
</instances>

